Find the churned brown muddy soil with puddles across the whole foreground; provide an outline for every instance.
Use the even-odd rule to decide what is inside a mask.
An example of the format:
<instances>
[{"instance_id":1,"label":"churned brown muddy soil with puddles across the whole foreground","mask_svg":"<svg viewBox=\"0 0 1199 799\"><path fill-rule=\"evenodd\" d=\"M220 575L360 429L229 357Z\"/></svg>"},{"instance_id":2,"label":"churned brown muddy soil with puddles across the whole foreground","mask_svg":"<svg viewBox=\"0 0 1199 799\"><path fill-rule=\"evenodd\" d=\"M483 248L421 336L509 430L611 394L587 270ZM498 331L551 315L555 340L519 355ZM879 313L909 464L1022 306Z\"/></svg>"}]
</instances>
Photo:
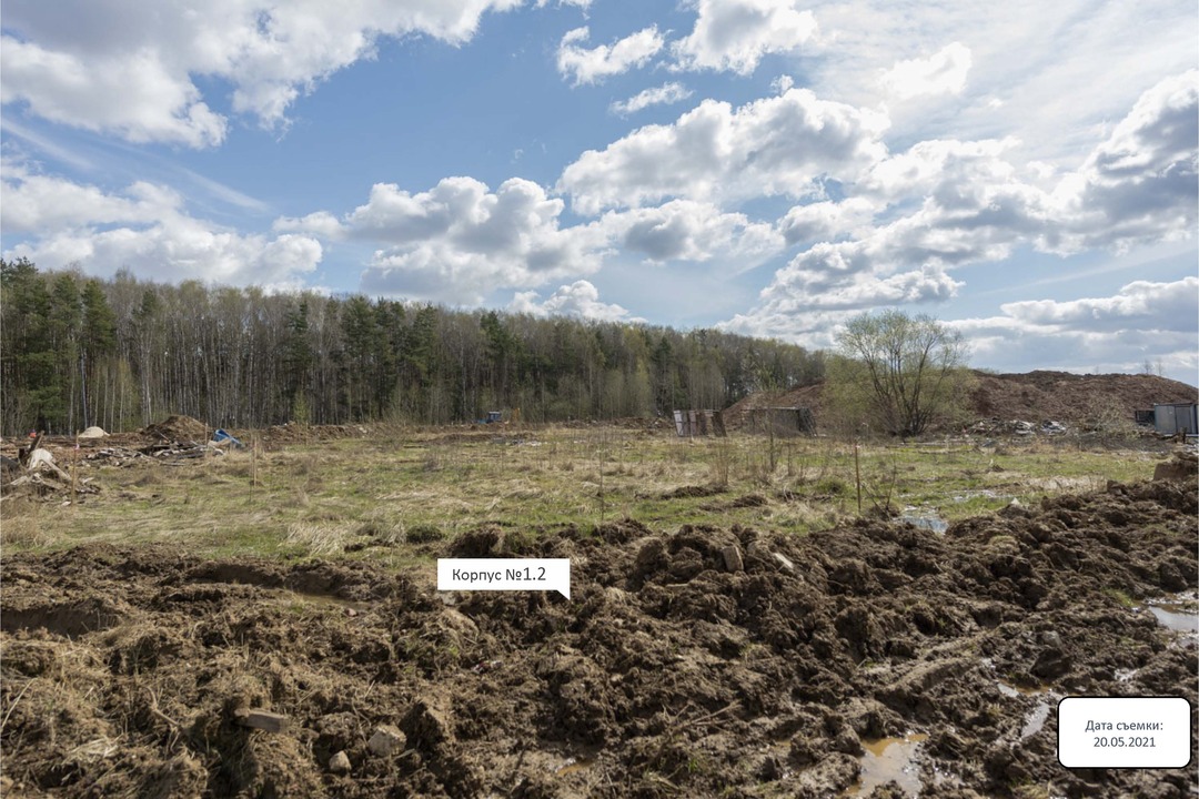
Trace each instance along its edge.
<instances>
[{"instance_id":1,"label":"churned brown muddy soil with puddles across the whole foreground","mask_svg":"<svg viewBox=\"0 0 1199 799\"><path fill-rule=\"evenodd\" d=\"M1061 768L1053 708L1199 704L1195 636L1144 610L1195 589L1197 540L1194 486L1159 483L942 534L628 521L444 545L570 557L573 601L439 594L432 563L6 557L2 791L1186 797L1191 768ZM246 727L248 709L284 731ZM403 742L386 753L368 745L384 725ZM918 746L879 782L868 746L892 738Z\"/></svg>"}]
</instances>

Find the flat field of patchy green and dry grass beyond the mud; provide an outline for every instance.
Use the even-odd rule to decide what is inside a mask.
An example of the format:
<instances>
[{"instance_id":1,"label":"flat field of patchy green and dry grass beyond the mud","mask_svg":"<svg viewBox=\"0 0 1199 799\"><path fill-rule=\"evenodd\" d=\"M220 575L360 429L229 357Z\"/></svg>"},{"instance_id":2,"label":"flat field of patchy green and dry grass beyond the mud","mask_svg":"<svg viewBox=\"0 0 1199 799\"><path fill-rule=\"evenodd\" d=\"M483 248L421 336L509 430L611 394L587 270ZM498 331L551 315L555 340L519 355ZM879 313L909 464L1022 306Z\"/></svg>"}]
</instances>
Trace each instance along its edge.
<instances>
[{"instance_id":1,"label":"flat field of patchy green and dry grass beyond the mud","mask_svg":"<svg viewBox=\"0 0 1199 799\"><path fill-rule=\"evenodd\" d=\"M98 496L0 504L6 550L163 541L201 553L392 557L480 525L537 531L631 516L659 529L741 523L802 533L857 513L917 506L957 519L1012 498L1149 478L1153 458L1044 442L980 449L939 441L854 444L748 435L682 440L617 428L414 430L167 465L82 470ZM709 496L679 489L717 489ZM761 495L760 504L736 503ZM436 533L435 535L433 533ZM380 544L382 546L375 546Z\"/></svg>"}]
</instances>

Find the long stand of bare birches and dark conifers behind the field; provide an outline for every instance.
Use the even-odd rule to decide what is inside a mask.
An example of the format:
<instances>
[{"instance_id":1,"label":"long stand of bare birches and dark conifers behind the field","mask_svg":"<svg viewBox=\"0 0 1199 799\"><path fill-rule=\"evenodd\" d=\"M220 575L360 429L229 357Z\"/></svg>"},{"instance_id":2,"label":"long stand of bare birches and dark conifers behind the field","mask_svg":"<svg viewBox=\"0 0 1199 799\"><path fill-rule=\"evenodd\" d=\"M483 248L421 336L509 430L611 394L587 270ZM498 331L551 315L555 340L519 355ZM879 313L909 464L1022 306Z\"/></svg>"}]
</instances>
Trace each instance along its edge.
<instances>
[{"instance_id":1,"label":"long stand of bare birches and dark conifers behind the field","mask_svg":"<svg viewBox=\"0 0 1199 799\"><path fill-rule=\"evenodd\" d=\"M821 379L824 353L718 329L163 284L0 260L0 430L528 422L722 408ZM38 424L41 422L41 425Z\"/></svg>"}]
</instances>

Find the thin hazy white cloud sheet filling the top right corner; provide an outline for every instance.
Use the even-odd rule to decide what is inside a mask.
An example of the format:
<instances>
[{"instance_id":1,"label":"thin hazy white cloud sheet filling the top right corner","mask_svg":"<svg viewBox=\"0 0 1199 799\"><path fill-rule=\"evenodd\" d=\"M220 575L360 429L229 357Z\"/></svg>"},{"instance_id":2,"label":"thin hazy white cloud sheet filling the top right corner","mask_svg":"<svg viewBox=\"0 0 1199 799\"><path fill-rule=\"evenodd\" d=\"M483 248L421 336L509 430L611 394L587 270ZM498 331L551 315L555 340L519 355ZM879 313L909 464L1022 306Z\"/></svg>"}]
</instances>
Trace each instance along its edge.
<instances>
[{"instance_id":1,"label":"thin hazy white cloud sheet filling the top right corner","mask_svg":"<svg viewBox=\"0 0 1199 799\"><path fill-rule=\"evenodd\" d=\"M1011 137L1020 162L1059 169L1077 168L1079 153L1147 86L1193 67L1199 37L1199 16L1186 4L1091 4L1085 13L1040 0L813 0L807 7L820 35L805 48L803 79L819 96L862 107L886 102L892 135L905 141ZM970 52L963 91L891 102L879 77L947 42Z\"/></svg>"}]
</instances>

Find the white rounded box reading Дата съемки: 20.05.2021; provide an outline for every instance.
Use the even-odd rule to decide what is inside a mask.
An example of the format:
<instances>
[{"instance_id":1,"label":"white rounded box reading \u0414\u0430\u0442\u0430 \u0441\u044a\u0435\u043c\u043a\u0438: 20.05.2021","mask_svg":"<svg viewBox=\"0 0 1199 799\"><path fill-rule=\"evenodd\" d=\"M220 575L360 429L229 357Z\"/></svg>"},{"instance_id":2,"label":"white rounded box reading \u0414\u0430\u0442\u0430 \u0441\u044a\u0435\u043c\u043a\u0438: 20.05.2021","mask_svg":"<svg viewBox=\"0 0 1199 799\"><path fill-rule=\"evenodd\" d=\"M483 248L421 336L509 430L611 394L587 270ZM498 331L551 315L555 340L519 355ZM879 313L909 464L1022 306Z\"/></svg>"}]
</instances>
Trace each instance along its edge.
<instances>
[{"instance_id":1,"label":"white rounded box reading \u0414\u0430\u0442\u0430 \u0441\u044a\u0435\u043c\u043a\u0438: 20.05.2021","mask_svg":"<svg viewBox=\"0 0 1199 799\"><path fill-rule=\"evenodd\" d=\"M1191 703L1181 696L1067 696L1058 703L1058 762L1071 769L1185 768Z\"/></svg>"}]
</instances>

